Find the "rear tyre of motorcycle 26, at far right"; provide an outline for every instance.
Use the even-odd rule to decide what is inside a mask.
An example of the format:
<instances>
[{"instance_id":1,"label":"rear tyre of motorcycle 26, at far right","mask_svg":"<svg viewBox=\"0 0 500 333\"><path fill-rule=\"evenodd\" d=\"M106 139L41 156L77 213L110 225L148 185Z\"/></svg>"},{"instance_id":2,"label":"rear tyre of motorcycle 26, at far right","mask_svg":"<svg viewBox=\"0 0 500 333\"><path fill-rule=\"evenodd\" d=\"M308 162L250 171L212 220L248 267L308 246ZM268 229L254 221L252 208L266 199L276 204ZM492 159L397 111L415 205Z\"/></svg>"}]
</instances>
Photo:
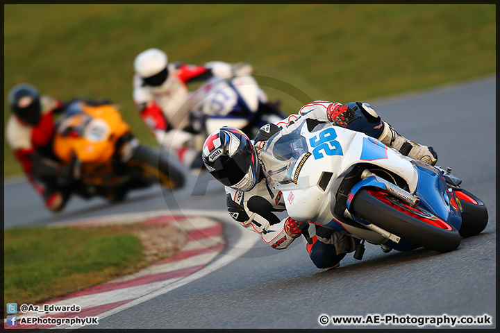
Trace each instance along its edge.
<instances>
[{"instance_id":1,"label":"rear tyre of motorcycle 26, at far right","mask_svg":"<svg viewBox=\"0 0 500 333\"><path fill-rule=\"evenodd\" d=\"M465 189L454 189L454 192L462 206L462 226L460 236L471 237L486 228L488 214L483 201Z\"/></svg>"}]
</instances>

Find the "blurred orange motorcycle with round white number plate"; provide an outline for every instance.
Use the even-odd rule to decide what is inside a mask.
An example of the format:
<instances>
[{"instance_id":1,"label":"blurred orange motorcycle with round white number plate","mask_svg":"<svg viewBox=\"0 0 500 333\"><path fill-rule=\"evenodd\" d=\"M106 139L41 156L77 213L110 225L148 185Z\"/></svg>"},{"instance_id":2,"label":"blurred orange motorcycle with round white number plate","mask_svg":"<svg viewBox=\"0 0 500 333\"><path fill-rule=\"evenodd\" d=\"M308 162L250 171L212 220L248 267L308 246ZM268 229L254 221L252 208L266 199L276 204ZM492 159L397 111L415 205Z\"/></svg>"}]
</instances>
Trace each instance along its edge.
<instances>
[{"instance_id":1,"label":"blurred orange motorcycle with round white number plate","mask_svg":"<svg viewBox=\"0 0 500 333\"><path fill-rule=\"evenodd\" d=\"M72 192L122 200L130 189L155 183L183 187L185 177L168 156L141 146L115 105L78 99L56 124L53 152L74 170Z\"/></svg>"}]
</instances>

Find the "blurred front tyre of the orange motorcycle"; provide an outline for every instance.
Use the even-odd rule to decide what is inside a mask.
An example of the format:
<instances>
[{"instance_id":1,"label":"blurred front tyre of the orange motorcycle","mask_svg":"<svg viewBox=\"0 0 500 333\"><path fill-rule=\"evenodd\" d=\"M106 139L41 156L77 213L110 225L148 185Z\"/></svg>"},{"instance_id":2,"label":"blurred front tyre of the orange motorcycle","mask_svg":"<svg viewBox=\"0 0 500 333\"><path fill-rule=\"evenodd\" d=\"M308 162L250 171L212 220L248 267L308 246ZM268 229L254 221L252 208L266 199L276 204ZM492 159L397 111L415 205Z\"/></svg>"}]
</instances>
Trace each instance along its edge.
<instances>
[{"instance_id":1,"label":"blurred front tyre of the orange motorcycle","mask_svg":"<svg viewBox=\"0 0 500 333\"><path fill-rule=\"evenodd\" d=\"M142 177L152 182L159 181L161 186L168 189L179 189L185 184L183 173L169 164L165 154L156 153L147 147L135 148L128 165L140 169Z\"/></svg>"}]
</instances>

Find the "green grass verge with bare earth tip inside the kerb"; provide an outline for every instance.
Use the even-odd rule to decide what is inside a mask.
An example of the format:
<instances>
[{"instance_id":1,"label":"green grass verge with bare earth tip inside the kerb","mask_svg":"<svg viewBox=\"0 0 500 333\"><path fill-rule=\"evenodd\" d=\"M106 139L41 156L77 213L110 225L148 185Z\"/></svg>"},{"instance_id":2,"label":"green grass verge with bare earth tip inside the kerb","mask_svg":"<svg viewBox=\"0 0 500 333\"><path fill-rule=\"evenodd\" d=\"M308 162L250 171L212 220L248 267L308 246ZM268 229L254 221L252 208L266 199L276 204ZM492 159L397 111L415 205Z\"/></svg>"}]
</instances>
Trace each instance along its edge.
<instances>
[{"instance_id":1,"label":"green grass verge with bare earth tip inside the kerb","mask_svg":"<svg viewBox=\"0 0 500 333\"><path fill-rule=\"evenodd\" d=\"M172 225L8 229L3 297L37 304L64 296L169 257L184 241L184 232Z\"/></svg>"}]
</instances>

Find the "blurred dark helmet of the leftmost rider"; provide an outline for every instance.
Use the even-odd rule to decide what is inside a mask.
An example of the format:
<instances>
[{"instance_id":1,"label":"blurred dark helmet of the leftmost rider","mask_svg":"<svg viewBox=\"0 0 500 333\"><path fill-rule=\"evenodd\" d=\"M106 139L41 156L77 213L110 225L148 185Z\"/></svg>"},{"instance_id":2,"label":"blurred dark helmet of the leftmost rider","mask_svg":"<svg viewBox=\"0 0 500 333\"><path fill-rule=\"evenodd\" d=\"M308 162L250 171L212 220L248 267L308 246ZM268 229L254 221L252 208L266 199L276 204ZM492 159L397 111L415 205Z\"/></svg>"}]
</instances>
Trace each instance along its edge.
<instances>
[{"instance_id":1,"label":"blurred dark helmet of the leftmost rider","mask_svg":"<svg viewBox=\"0 0 500 333\"><path fill-rule=\"evenodd\" d=\"M10 89L9 105L12 112L25 123L36 125L42 117L40 94L28 83L21 83Z\"/></svg>"}]
</instances>

